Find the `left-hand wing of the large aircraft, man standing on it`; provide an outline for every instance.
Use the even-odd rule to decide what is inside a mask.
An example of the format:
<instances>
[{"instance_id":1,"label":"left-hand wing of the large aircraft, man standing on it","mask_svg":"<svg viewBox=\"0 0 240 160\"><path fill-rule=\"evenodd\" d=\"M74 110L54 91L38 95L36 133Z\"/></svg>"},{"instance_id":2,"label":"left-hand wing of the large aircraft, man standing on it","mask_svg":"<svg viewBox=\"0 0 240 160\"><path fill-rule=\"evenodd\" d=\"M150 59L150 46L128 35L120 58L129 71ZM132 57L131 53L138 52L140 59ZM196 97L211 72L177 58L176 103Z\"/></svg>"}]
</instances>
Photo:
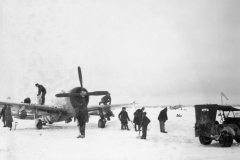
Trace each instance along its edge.
<instances>
[{"instance_id":1,"label":"left-hand wing of the large aircraft, man standing on it","mask_svg":"<svg viewBox=\"0 0 240 160\"><path fill-rule=\"evenodd\" d=\"M25 106L26 109L39 109L42 111L66 111L63 106L50 106L50 105L39 105L39 104L28 104L28 103L13 103L13 102L1 102L0 108L3 108L3 105L11 105L13 107L22 107Z\"/></svg>"}]
</instances>

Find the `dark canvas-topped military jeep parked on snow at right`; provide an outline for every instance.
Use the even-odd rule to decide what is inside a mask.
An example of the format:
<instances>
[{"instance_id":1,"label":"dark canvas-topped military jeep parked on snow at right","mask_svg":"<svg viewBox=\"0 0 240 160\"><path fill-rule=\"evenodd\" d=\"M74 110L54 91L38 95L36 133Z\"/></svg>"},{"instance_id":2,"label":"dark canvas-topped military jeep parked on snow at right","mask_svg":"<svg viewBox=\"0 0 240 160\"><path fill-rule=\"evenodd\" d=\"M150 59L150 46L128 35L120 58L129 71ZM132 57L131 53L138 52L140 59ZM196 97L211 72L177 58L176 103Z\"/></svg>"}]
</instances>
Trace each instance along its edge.
<instances>
[{"instance_id":1,"label":"dark canvas-topped military jeep parked on snow at right","mask_svg":"<svg viewBox=\"0 0 240 160\"><path fill-rule=\"evenodd\" d=\"M229 105L195 105L195 136L203 145L219 141L222 147L230 147L233 139L240 143L240 109ZM219 116L217 116L217 112Z\"/></svg>"}]
</instances>

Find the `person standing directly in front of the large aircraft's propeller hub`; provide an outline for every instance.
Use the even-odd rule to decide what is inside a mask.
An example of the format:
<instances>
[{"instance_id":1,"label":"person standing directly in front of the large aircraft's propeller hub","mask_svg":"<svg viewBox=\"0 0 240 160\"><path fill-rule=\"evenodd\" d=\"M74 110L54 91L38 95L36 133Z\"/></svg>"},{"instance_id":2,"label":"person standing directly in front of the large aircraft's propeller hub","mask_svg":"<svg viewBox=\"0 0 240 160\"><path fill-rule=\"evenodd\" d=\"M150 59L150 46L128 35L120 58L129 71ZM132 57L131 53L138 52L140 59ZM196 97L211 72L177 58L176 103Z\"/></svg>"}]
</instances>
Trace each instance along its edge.
<instances>
[{"instance_id":1,"label":"person standing directly in front of the large aircraft's propeller hub","mask_svg":"<svg viewBox=\"0 0 240 160\"><path fill-rule=\"evenodd\" d=\"M79 135L77 138L85 138L85 128L86 122L88 121L88 117L85 117L85 114L79 108L76 109L76 118L78 120L77 126L79 129Z\"/></svg>"}]
</instances>

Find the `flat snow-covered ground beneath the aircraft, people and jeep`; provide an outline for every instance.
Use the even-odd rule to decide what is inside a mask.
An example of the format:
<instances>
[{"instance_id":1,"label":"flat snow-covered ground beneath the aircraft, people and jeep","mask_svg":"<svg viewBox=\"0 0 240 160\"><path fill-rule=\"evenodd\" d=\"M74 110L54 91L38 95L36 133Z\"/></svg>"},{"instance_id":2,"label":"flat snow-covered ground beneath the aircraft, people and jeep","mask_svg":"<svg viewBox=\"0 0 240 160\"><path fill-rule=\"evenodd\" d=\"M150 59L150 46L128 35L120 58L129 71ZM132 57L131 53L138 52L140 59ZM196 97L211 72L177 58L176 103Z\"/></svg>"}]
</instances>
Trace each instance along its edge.
<instances>
[{"instance_id":1,"label":"flat snow-covered ground beneath the aircraft, people and jeep","mask_svg":"<svg viewBox=\"0 0 240 160\"><path fill-rule=\"evenodd\" d=\"M92 116L86 127L86 138L77 139L76 122L64 122L44 126L36 130L34 121L16 120L17 129L0 128L0 160L228 160L240 158L240 145L235 141L230 148L220 147L213 141L209 146L199 143L194 136L195 113L193 107L186 110L168 110L167 134L160 133L158 114L162 108L146 108L151 119L147 140L138 139L138 132L129 123L130 131L120 130L117 115L97 128L98 117ZM134 108L127 109L133 119ZM176 114L182 117L176 117ZM1 124L2 125L2 124Z\"/></svg>"}]
</instances>

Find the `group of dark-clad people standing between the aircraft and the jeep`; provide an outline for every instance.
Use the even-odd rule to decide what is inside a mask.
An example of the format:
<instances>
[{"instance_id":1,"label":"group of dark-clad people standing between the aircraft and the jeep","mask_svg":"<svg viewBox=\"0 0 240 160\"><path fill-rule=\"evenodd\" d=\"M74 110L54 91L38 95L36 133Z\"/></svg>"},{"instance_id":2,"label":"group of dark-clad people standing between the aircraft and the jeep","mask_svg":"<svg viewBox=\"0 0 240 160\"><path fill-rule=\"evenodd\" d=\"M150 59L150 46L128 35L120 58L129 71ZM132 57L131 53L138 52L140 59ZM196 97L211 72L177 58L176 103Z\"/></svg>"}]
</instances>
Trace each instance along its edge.
<instances>
[{"instance_id":1,"label":"group of dark-clad people standing between the aircraft and the jeep","mask_svg":"<svg viewBox=\"0 0 240 160\"><path fill-rule=\"evenodd\" d=\"M151 122L151 120L147 117L147 112L144 112L144 107L142 109L137 109L134 112L134 119L133 119L133 123L134 123L134 128L135 131L141 131L142 129L142 136L140 137L141 139L146 139L147 138L147 127L148 124ZM128 127L128 121L131 121L128 113L126 111L126 108L123 107L122 111L119 113L118 115L119 120L121 121L121 130L127 129L130 130ZM164 108L158 116L158 121L160 124L160 132L162 133L167 133L165 130L165 122L168 120L168 116L167 116L167 107Z\"/></svg>"}]
</instances>

